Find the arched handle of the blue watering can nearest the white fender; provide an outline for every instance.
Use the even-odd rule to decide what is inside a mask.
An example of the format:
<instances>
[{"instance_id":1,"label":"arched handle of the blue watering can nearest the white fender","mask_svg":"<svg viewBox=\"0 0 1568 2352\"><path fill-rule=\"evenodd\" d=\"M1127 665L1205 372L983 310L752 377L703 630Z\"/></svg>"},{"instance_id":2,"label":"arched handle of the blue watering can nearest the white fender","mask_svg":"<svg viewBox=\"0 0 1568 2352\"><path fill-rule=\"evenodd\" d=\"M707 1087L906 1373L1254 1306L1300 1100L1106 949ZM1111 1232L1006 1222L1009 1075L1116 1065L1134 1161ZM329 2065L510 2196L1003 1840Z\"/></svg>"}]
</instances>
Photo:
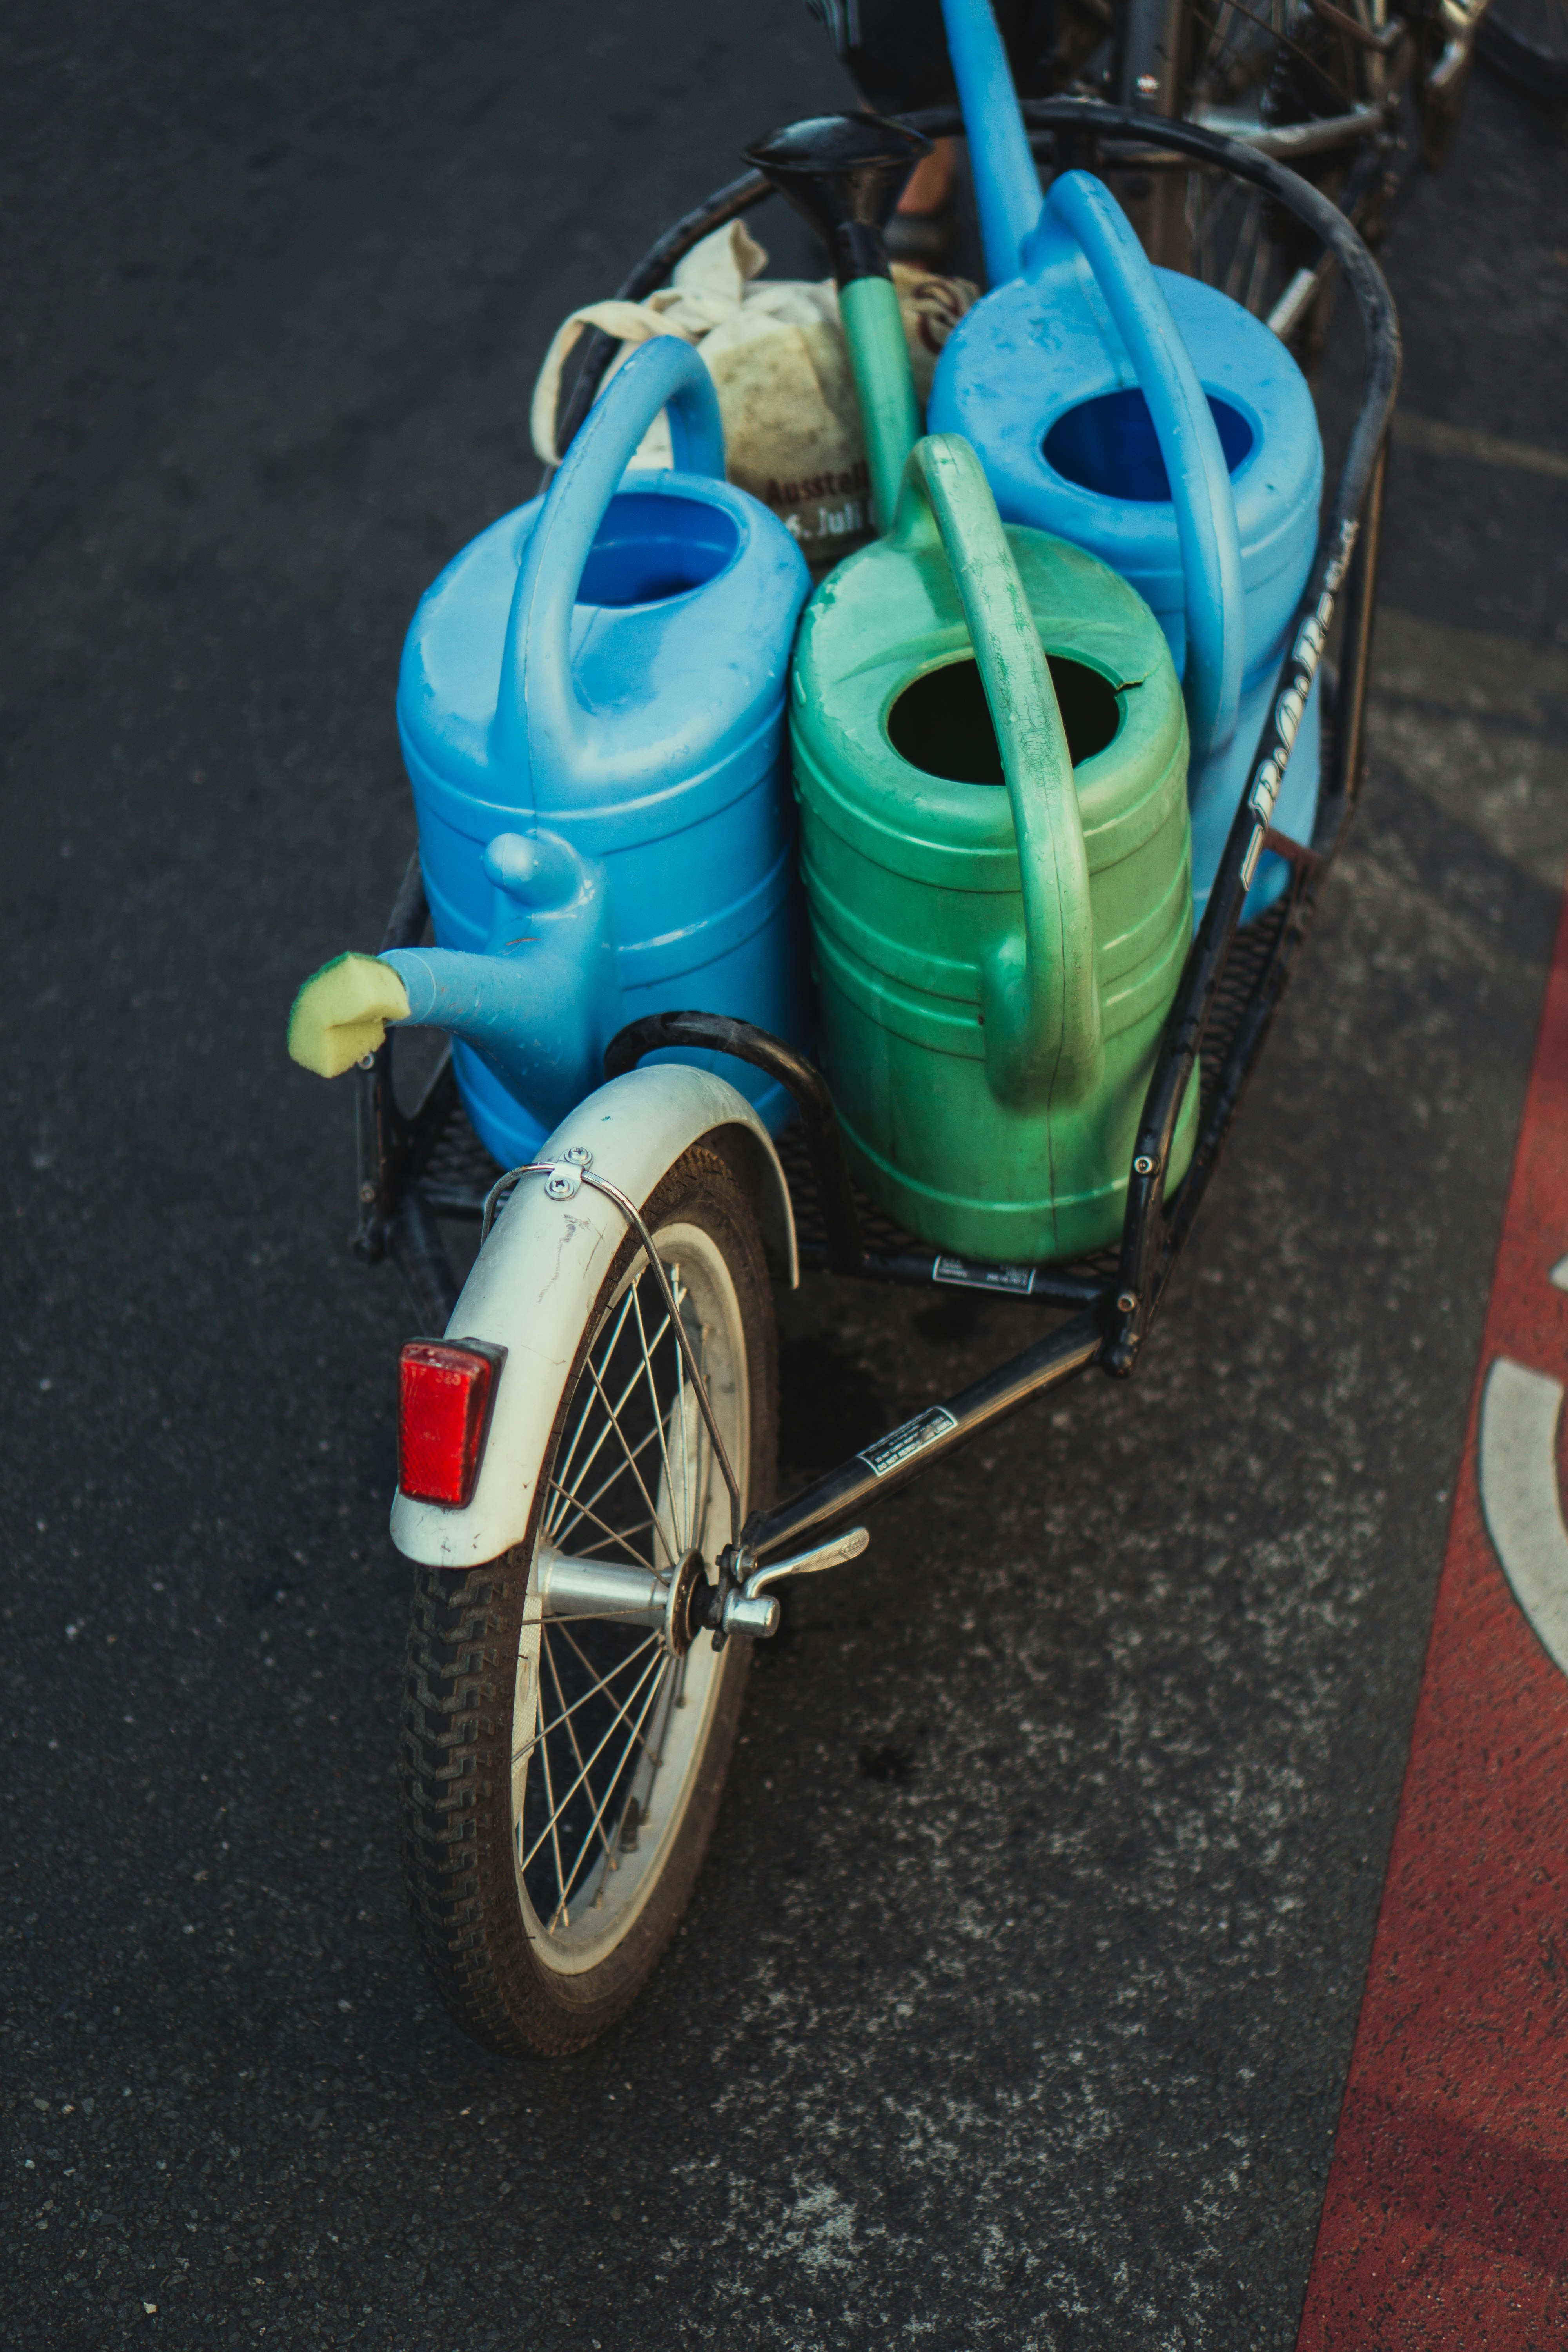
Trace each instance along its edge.
<instances>
[{"instance_id":1,"label":"arched handle of the blue watering can nearest the white fender","mask_svg":"<svg viewBox=\"0 0 1568 2352\"><path fill-rule=\"evenodd\" d=\"M529 536L496 696L496 757L505 767L534 774L541 762L569 757L590 729L571 682L571 609L609 501L663 407L677 468L724 480L712 376L675 334L639 343L588 412Z\"/></svg>"}]
</instances>

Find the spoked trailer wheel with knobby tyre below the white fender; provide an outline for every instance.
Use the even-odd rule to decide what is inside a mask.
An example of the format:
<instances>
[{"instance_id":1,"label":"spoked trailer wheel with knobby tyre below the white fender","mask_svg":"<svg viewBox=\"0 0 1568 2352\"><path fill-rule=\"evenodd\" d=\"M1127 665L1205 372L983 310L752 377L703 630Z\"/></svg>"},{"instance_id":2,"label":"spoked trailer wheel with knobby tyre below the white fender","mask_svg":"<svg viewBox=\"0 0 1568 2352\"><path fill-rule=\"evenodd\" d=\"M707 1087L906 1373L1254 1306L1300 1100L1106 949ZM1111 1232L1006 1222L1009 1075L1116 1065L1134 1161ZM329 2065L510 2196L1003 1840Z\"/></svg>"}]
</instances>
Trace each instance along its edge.
<instances>
[{"instance_id":1,"label":"spoked trailer wheel with knobby tyre below the white fender","mask_svg":"<svg viewBox=\"0 0 1568 2352\"><path fill-rule=\"evenodd\" d=\"M696 1145L644 1204L644 1223L743 1505L766 1505L773 1294L750 1195L717 1150ZM510 1472L536 1494L524 1543L468 1573L418 1569L404 1879L456 2023L508 2056L555 2056L614 2025L675 1931L719 1809L752 1649L715 1651L705 1632L689 1635L686 1583L724 1543L729 1498L639 1247L621 1249L585 1303L543 1461ZM658 1604L628 1611L595 1595L592 1569L658 1583L665 1623Z\"/></svg>"}]
</instances>

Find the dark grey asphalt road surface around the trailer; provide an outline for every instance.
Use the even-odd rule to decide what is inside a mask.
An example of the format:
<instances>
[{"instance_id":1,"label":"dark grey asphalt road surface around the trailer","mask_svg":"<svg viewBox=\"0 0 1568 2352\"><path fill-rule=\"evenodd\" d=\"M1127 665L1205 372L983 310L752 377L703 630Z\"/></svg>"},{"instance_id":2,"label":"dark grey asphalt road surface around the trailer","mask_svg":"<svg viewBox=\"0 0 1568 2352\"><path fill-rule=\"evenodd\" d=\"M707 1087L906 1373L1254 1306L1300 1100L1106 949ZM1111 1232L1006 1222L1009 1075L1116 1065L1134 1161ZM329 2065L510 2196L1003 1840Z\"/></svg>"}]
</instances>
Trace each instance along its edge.
<instances>
[{"instance_id":1,"label":"dark grey asphalt road surface around the trailer","mask_svg":"<svg viewBox=\"0 0 1568 2352\"><path fill-rule=\"evenodd\" d=\"M503 2065L402 1917L411 1310L284 1016L555 320L844 82L788 0L5 42L7 2338L1288 2347L1568 861L1561 120L1479 82L1389 238L1366 811L1147 1369L790 1599L649 1994ZM1034 1315L809 1282L788 1463Z\"/></svg>"}]
</instances>

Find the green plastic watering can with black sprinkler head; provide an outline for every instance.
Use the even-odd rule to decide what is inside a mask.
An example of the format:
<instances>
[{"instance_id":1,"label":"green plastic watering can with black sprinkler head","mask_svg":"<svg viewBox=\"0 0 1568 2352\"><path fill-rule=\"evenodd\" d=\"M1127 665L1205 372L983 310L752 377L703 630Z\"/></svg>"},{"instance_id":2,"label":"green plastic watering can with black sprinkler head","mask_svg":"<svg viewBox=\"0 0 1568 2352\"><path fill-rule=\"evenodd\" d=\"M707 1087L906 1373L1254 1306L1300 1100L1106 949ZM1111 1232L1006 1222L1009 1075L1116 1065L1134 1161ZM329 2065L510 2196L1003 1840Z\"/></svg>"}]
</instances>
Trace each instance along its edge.
<instances>
[{"instance_id":1,"label":"green plastic watering can with black sprinkler head","mask_svg":"<svg viewBox=\"0 0 1568 2352\"><path fill-rule=\"evenodd\" d=\"M1138 590L1006 527L961 435L914 437L877 282L910 139L827 118L748 158L830 233L891 522L816 590L795 652L820 1051L856 1176L898 1223L964 1258L1067 1258L1121 1230L1192 936L1187 715ZM1190 1087L1171 1181L1194 1129Z\"/></svg>"}]
</instances>

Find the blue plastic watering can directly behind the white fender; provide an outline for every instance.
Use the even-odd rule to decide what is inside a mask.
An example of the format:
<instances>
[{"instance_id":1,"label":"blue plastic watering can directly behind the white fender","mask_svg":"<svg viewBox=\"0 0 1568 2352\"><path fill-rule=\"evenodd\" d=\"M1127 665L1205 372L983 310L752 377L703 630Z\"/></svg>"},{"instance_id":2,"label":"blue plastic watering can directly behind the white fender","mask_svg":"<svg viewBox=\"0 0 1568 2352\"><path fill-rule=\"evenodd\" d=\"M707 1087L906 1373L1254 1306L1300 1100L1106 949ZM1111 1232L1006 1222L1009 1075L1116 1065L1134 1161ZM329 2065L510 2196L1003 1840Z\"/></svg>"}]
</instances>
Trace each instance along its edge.
<instances>
[{"instance_id":1,"label":"blue plastic watering can directly behind the white fender","mask_svg":"<svg viewBox=\"0 0 1568 2352\"><path fill-rule=\"evenodd\" d=\"M677 470L623 485L665 405ZM463 548L414 614L397 729L437 950L473 962L390 962L411 1018L458 1040L463 1103L503 1164L599 1084L642 1014L802 1042L783 717L809 586L783 524L724 482L708 369L658 336L548 496ZM722 1070L771 1127L790 1115L748 1063L665 1058Z\"/></svg>"}]
</instances>

